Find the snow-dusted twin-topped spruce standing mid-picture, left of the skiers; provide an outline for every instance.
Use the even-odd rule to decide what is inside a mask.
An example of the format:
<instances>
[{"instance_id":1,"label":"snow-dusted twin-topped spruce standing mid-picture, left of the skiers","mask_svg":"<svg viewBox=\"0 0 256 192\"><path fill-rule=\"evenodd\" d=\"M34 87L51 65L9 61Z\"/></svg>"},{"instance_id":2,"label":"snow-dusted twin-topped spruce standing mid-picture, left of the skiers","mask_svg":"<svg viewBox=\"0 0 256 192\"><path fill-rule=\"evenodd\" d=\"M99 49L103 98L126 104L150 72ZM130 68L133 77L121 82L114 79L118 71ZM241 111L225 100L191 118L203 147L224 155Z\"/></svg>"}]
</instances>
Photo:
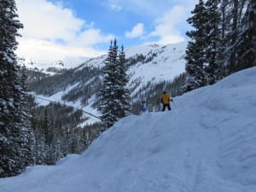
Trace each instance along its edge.
<instances>
[{"instance_id":1,"label":"snow-dusted twin-topped spruce standing mid-picture, left of the skiers","mask_svg":"<svg viewBox=\"0 0 256 192\"><path fill-rule=\"evenodd\" d=\"M102 112L103 130L129 113L129 91L125 88L128 79L125 73L124 49L118 55L116 39L111 41L108 58L104 61L103 88L99 92L98 109Z\"/></svg>"}]
</instances>

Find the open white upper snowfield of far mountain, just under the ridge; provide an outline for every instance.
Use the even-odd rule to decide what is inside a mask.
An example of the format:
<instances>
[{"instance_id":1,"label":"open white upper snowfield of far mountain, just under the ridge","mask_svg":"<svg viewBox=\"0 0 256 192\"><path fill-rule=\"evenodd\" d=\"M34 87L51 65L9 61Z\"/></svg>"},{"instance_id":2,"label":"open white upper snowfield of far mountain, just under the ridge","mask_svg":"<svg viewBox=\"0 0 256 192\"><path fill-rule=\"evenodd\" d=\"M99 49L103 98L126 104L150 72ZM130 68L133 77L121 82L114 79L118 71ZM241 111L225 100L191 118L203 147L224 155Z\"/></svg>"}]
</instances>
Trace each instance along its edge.
<instances>
[{"instance_id":1,"label":"open white upper snowfield of far mountain, just under the ridge","mask_svg":"<svg viewBox=\"0 0 256 192\"><path fill-rule=\"evenodd\" d=\"M140 86L163 80L172 80L177 75L185 71L185 49L187 42L177 44L144 44L125 49L125 58L136 60L143 56L143 61L138 61L135 65L128 68L128 75L131 82L138 80ZM84 66L103 67L103 61L107 55L102 55L85 61ZM78 69L79 70L79 69Z\"/></svg>"}]
</instances>

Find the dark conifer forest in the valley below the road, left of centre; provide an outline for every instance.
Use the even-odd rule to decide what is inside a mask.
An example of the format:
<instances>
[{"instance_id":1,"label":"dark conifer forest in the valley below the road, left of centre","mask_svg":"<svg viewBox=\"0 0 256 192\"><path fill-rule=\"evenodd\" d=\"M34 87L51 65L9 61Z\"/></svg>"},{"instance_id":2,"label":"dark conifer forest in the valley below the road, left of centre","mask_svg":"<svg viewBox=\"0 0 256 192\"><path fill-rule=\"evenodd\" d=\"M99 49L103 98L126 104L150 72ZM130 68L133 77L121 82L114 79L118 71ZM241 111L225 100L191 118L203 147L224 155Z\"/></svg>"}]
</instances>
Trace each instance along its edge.
<instances>
[{"instance_id":1,"label":"dark conifer forest in the valley below the road, left of centre","mask_svg":"<svg viewBox=\"0 0 256 192\"><path fill-rule=\"evenodd\" d=\"M37 165L55 165L67 154L81 154L98 135L101 126L81 125L81 110L61 104L33 108L32 131L35 137L32 151Z\"/></svg>"}]
</instances>

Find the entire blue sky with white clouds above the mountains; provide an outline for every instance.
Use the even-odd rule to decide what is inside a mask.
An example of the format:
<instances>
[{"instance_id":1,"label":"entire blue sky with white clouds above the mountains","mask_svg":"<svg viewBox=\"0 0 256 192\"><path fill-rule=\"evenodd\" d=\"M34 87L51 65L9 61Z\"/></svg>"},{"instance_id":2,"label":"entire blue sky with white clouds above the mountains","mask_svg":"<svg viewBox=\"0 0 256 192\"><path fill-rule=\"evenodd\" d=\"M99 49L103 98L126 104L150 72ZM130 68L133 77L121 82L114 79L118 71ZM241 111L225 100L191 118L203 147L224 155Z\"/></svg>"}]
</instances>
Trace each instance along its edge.
<instances>
[{"instance_id":1,"label":"entire blue sky with white clouds above the mountains","mask_svg":"<svg viewBox=\"0 0 256 192\"><path fill-rule=\"evenodd\" d=\"M197 0L16 0L16 3L24 24L18 55L31 60L45 59L47 55L50 61L67 55L101 55L108 51L113 38L125 48L184 41L189 30L186 20Z\"/></svg>"}]
</instances>

